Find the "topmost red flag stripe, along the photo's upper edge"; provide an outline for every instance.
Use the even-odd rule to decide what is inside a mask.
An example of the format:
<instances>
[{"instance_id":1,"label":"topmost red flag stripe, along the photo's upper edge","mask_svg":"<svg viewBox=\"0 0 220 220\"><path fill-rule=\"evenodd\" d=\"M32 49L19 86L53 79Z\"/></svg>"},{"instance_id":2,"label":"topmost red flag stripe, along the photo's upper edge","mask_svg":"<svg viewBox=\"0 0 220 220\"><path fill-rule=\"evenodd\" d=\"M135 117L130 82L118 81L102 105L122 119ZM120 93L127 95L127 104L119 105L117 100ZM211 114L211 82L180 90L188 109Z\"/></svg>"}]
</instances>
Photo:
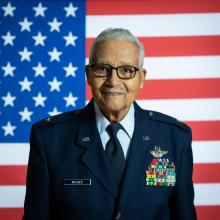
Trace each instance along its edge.
<instances>
[{"instance_id":1,"label":"topmost red flag stripe, along the photo's upper edge","mask_svg":"<svg viewBox=\"0 0 220 220\"><path fill-rule=\"evenodd\" d=\"M219 0L87 0L88 15L219 12Z\"/></svg>"}]
</instances>

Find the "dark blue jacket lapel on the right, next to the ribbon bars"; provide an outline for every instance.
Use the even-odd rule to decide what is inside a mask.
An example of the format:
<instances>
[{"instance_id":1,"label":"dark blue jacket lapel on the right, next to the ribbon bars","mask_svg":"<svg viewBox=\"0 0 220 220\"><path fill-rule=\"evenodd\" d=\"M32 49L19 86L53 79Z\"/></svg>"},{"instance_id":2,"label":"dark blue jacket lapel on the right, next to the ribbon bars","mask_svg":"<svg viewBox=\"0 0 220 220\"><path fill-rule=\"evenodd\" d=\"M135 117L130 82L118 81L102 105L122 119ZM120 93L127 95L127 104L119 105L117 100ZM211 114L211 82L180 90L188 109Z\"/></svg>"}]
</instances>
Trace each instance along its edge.
<instances>
[{"instance_id":1,"label":"dark blue jacket lapel on the right, next to the ribbon bars","mask_svg":"<svg viewBox=\"0 0 220 220\"><path fill-rule=\"evenodd\" d=\"M127 166L121 187L119 206L125 205L129 195L134 191L137 183L145 184L145 171L153 159L150 151L154 143L151 120L147 111L142 110L136 103L135 106L135 129L132 138Z\"/></svg>"}]
</instances>

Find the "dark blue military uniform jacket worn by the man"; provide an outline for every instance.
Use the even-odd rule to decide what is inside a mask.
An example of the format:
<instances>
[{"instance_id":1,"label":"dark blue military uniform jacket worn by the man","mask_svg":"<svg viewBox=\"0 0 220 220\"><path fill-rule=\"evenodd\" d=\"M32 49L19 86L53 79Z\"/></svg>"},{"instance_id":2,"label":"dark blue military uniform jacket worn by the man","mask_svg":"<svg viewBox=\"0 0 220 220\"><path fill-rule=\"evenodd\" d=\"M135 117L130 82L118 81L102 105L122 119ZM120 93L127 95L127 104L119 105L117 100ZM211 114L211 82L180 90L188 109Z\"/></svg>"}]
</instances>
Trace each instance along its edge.
<instances>
[{"instance_id":1,"label":"dark blue military uniform jacket worn by the man","mask_svg":"<svg viewBox=\"0 0 220 220\"><path fill-rule=\"evenodd\" d=\"M23 220L196 219L190 128L134 107L134 135L120 189L101 144L93 100L82 110L33 125ZM155 146L166 154L155 158ZM153 184L156 177L147 176L152 165L161 165L154 163L158 159L168 161L165 171L170 165L174 171L171 186L163 184L166 172Z\"/></svg>"}]
</instances>

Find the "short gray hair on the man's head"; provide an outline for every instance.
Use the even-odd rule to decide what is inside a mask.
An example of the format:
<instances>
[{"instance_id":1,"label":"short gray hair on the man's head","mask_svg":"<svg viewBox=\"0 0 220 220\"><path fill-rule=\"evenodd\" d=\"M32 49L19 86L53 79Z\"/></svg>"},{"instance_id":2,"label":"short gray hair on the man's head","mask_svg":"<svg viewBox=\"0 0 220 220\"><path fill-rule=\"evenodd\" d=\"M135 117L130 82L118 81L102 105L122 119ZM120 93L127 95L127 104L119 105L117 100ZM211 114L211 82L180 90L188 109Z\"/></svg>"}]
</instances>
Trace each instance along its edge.
<instances>
[{"instance_id":1,"label":"short gray hair on the man's head","mask_svg":"<svg viewBox=\"0 0 220 220\"><path fill-rule=\"evenodd\" d=\"M129 40L133 42L139 50L139 65L143 67L144 64L144 47L137 37L135 37L129 30L124 28L108 28L102 31L93 41L90 48L89 64L92 64L96 46L105 40Z\"/></svg>"}]
</instances>

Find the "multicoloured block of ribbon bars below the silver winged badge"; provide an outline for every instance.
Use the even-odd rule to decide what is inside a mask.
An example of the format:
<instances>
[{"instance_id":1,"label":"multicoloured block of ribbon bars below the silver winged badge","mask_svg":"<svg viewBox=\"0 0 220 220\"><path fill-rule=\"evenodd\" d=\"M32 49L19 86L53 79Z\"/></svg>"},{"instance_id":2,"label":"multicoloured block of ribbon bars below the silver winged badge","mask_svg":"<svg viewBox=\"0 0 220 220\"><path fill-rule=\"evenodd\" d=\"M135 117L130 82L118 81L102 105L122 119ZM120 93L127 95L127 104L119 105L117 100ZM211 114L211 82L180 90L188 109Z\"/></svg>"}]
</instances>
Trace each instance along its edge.
<instances>
[{"instance_id":1,"label":"multicoloured block of ribbon bars below the silver winged badge","mask_svg":"<svg viewBox=\"0 0 220 220\"><path fill-rule=\"evenodd\" d=\"M146 186L175 186L174 162L166 158L154 158L146 170Z\"/></svg>"}]
</instances>

